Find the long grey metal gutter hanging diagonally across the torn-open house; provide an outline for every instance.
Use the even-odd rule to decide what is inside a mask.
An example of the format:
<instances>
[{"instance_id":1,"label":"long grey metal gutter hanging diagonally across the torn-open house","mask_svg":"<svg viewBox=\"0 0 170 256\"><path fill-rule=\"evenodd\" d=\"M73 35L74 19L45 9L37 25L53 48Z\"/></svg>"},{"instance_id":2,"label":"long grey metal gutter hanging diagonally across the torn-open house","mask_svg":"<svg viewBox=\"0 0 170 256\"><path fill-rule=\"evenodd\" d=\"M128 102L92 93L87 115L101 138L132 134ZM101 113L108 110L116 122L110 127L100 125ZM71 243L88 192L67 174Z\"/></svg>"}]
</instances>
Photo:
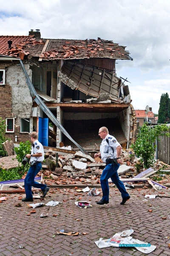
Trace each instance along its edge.
<instances>
[{"instance_id":1,"label":"long grey metal gutter hanging diagonally across the torn-open house","mask_svg":"<svg viewBox=\"0 0 170 256\"><path fill-rule=\"evenodd\" d=\"M40 97L38 96L36 90L34 89L34 85L31 83L31 80L29 79L28 73L26 72L26 69L25 69L21 59L20 59L20 64L21 64L23 73L26 76L26 82L28 84L28 88L30 90L31 96L34 99L34 101L37 103L37 105L40 106L42 111L51 119L52 122L54 122L54 124L59 128L59 130L62 131L62 133L65 134L65 136L68 137L69 140L71 140L84 154L88 154L89 155L89 153L84 148L82 148L76 141L74 141L71 138L71 136L68 134L68 132L65 130L65 128L59 123L57 118L53 115L53 113L51 113L51 111L47 108L45 103L40 99Z\"/></svg>"}]
</instances>

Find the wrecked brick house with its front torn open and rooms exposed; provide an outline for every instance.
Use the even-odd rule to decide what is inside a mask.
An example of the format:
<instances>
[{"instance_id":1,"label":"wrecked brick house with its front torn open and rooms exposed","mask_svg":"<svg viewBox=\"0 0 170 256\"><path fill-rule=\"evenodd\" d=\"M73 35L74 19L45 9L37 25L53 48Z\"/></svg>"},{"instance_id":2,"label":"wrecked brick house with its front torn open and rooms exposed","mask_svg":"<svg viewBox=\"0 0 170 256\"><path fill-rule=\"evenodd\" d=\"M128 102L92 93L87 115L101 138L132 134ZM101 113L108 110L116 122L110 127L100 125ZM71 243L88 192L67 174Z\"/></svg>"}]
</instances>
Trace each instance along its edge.
<instances>
[{"instance_id":1,"label":"wrecked brick house with its front torn open and rooms exposed","mask_svg":"<svg viewBox=\"0 0 170 256\"><path fill-rule=\"evenodd\" d=\"M44 39L39 30L28 36L0 36L0 116L6 119L6 136L21 142L37 131L43 145L53 141L53 146L63 142L75 148L34 101L19 58L48 111L79 145L99 147L101 126L124 147L134 142L129 89L115 73L116 59L132 60L125 47L100 38Z\"/></svg>"}]
</instances>

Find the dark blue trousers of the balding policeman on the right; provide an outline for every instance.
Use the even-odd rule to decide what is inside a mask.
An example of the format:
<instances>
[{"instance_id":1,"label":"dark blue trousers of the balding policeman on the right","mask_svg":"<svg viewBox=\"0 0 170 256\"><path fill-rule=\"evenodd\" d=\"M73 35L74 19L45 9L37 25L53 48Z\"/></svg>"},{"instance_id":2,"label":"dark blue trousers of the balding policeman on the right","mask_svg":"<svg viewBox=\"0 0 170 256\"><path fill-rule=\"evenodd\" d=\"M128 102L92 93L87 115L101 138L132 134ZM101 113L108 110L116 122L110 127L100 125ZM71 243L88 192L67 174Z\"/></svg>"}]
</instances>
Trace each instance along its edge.
<instances>
[{"instance_id":1,"label":"dark blue trousers of the balding policeman on the right","mask_svg":"<svg viewBox=\"0 0 170 256\"><path fill-rule=\"evenodd\" d=\"M109 184L108 179L111 178L112 182L116 185L116 187L121 192L122 198L126 198L129 194L126 192L125 186L121 180L119 180L119 175L117 170L119 169L119 164L111 165L111 163L107 164L105 169L102 172L100 177L100 183L102 187L103 197L102 199L105 201L109 201Z\"/></svg>"}]
</instances>

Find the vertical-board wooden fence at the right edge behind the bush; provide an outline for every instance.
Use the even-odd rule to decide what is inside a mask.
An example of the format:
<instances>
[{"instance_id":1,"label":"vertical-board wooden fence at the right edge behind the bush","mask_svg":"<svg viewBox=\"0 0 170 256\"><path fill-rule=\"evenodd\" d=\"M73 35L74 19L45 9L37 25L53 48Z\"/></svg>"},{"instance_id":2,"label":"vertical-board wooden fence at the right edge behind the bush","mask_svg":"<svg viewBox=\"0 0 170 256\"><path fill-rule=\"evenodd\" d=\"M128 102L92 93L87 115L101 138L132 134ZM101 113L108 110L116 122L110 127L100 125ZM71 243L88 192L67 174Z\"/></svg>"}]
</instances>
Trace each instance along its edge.
<instances>
[{"instance_id":1,"label":"vertical-board wooden fence at the right edge behind the bush","mask_svg":"<svg viewBox=\"0 0 170 256\"><path fill-rule=\"evenodd\" d=\"M170 132L164 131L164 134ZM157 157L160 161L170 164L170 137L160 136L160 140L157 140Z\"/></svg>"}]
</instances>

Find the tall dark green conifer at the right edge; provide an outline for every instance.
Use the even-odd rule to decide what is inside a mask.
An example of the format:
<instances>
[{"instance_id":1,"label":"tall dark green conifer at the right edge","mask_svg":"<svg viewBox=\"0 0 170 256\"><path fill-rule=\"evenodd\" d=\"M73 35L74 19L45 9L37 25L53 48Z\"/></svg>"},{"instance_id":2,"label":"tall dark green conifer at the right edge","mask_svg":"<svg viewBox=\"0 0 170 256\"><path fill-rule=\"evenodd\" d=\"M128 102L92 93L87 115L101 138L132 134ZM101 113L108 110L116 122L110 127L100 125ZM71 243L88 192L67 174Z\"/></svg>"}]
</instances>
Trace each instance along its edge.
<instances>
[{"instance_id":1,"label":"tall dark green conifer at the right edge","mask_svg":"<svg viewBox=\"0 0 170 256\"><path fill-rule=\"evenodd\" d=\"M162 93L159 111L158 111L158 123L170 122L170 99L168 93Z\"/></svg>"}]
</instances>

